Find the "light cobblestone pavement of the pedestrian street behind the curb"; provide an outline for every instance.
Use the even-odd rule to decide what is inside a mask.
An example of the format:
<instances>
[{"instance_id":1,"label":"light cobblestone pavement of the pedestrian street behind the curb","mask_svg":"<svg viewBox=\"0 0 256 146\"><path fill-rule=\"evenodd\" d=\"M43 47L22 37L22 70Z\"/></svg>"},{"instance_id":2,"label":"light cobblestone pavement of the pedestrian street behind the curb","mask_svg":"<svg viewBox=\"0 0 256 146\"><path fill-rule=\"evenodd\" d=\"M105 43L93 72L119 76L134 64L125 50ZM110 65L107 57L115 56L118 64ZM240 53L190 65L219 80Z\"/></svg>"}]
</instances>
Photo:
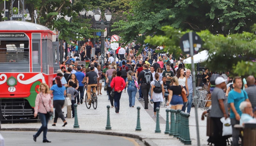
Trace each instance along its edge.
<instances>
[{"instance_id":1,"label":"light cobblestone pavement of the pedestrian street behind the curb","mask_svg":"<svg viewBox=\"0 0 256 146\"><path fill-rule=\"evenodd\" d=\"M104 83L103 83L104 84ZM102 85L103 85L102 84ZM93 130L93 131L106 131L106 118L107 118L107 105L110 105L110 100L106 92L103 91L103 95L98 95L98 107L96 110L91 106L90 109L86 108L86 105L78 105L78 122L80 125L80 130ZM137 94L138 95L138 94ZM138 96L136 96L138 98ZM156 146L182 146L183 144L176 138L172 136L165 135L165 123L160 122L161 133L154 133L155 131L155 118L153 115L153 104L149 107L149 112L144 110L142 106L143 101L135 101L135 107L129 107L128 94L122 93L120 99L120 114L116 114L114 108L110 108L110 123L112 130L111 132L123 133L123 134L134 134L140 137L150 139L153 143L151 145ZM149 106L150 106L149 105ZM141 107L140 110L140 126L142 131L135 131L136 121L137 121L137 109L136 107ZM163 120L166 119L166 107L161 106L160 116ZM65 114L67 113L66 108L63 108ZM201 121L200 117L202 115L200 109L198 109L199 117L199 132L200 132L200 145L207 145L206 136L206 121ZM149 114L148 114L149 113ZM66 127L62 127L63 122L61 119L58 120L56 126L52 126L53 121L49 121L48 129L74 129L74 119L67 119L68 124ZM39 128L41 123L20 123L20 124L3 124L2 128ZM195 108L191 108L191 116L189 117L189 131L192 145L196 146L196 122L195 122Z\"/></svg>"}]
</instances>

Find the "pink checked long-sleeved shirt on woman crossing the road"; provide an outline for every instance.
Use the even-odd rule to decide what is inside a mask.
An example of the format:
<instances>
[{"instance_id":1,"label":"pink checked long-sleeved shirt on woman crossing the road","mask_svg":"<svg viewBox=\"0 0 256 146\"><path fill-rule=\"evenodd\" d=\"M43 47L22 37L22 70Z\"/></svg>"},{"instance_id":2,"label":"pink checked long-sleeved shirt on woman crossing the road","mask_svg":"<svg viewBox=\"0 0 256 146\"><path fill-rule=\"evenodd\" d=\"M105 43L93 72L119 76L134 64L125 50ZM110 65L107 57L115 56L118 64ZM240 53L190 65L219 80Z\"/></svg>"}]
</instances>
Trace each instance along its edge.
<instances>
[{"instance_id":1,"label":"pink checked long-sleeved shirt on woman crossing the road","mask_svg":"<svg viewBox=\"0 0 256 146\"><path fill-rule=\"evenodd\" d=\"M44 102L44 104L42 103L42 101ZM42 92L37 94L37 97L35 98L35 114L37 114L38 112L46 114L51 110L51 107L53 107L53 105L50 94L46 94L45 96Z\"/></svg>"}]
</instances>

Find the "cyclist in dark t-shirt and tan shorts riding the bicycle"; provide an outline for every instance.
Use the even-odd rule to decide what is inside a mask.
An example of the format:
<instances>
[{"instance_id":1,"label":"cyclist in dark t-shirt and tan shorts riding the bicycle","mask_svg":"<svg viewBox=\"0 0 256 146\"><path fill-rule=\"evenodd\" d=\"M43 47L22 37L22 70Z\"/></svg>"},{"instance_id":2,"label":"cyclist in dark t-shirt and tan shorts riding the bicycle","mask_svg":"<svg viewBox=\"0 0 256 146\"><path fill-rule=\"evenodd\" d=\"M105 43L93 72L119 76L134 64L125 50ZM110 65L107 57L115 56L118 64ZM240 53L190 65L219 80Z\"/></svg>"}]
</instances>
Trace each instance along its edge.
<instances>
[{"instance_id":1,"label":"cyclist in dark t-shirt and tan shorts riding the bicycle","mask_svg":"<svg viewBox=\"0 0 256 146\"><path fill-rule=\"evenodd\" d=\"M93 88L93 93L96 93L96 88L98 85L98 74L94 71L94 66L90 67L90 72L86 73L86 83L87 85L87 96L88 96L88 101L89 105L91 105L91 88Z\"/></svg>"}]
</instances>

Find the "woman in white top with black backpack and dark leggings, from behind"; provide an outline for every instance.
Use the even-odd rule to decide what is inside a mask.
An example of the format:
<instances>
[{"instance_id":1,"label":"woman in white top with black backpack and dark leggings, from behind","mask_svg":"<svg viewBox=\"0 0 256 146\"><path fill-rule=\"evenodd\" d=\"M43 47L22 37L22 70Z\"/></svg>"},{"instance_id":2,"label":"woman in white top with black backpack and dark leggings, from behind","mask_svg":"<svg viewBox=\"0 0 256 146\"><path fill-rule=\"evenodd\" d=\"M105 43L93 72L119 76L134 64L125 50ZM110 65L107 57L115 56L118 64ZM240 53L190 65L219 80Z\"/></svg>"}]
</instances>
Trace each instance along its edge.
<instances>
[{"instance_id":1,"label":"woman in white top with black backpack and dark leggings, from behind","mask_svg":"<svg viewBox=\"0 0 256 146\"><path fill-rule=\"evenodd\" d=\"M163 89L163 81L159 81L159 74L155 73L155 80L151 83L151 100L154 101L154 115L156 117L156 108L160 108L160 103L163 102L165 90Z\"/></svg>"}]
</instances>

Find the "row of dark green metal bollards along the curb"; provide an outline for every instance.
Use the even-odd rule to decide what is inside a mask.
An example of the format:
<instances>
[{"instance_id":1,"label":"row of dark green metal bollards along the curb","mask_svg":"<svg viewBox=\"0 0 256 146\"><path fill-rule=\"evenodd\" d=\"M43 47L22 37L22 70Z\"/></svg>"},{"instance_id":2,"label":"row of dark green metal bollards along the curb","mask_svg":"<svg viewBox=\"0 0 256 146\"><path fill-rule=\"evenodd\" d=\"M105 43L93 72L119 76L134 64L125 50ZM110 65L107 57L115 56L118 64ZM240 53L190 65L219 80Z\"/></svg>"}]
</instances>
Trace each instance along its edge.
<instances>
[{"instance_id":1,"label":"row of dark green metal bollards along the curb","mask_svg":"<svg viewBox=\"0 0 256 146\"><path fill-rule=\"evenodd\" d=\"M74 128L79 128L78 117L77 117L77 104L74 104L74 108L75 108ZM106 130L111 130L109 108L110 106L108 105ZM140 107L137 107L137 110L138 110L138 116L137 116L137 125L135 128L135 131L141 131ZM159 108L156 108L156 111L157 111L157 115L156 115L157 120L156 120L155 133L161 133L160 123L159 123ZM189 114L181 110L166 109L165 111L166 111L166 127L165 127L164 133L169 134L169 136L173 135L173 137L180 139L180 141L185 145L191 145L191 139L189 134L189 123L188 123ZM169 112L171 113L170 126L169 126Z\"/></svg>"}]
</instances>

